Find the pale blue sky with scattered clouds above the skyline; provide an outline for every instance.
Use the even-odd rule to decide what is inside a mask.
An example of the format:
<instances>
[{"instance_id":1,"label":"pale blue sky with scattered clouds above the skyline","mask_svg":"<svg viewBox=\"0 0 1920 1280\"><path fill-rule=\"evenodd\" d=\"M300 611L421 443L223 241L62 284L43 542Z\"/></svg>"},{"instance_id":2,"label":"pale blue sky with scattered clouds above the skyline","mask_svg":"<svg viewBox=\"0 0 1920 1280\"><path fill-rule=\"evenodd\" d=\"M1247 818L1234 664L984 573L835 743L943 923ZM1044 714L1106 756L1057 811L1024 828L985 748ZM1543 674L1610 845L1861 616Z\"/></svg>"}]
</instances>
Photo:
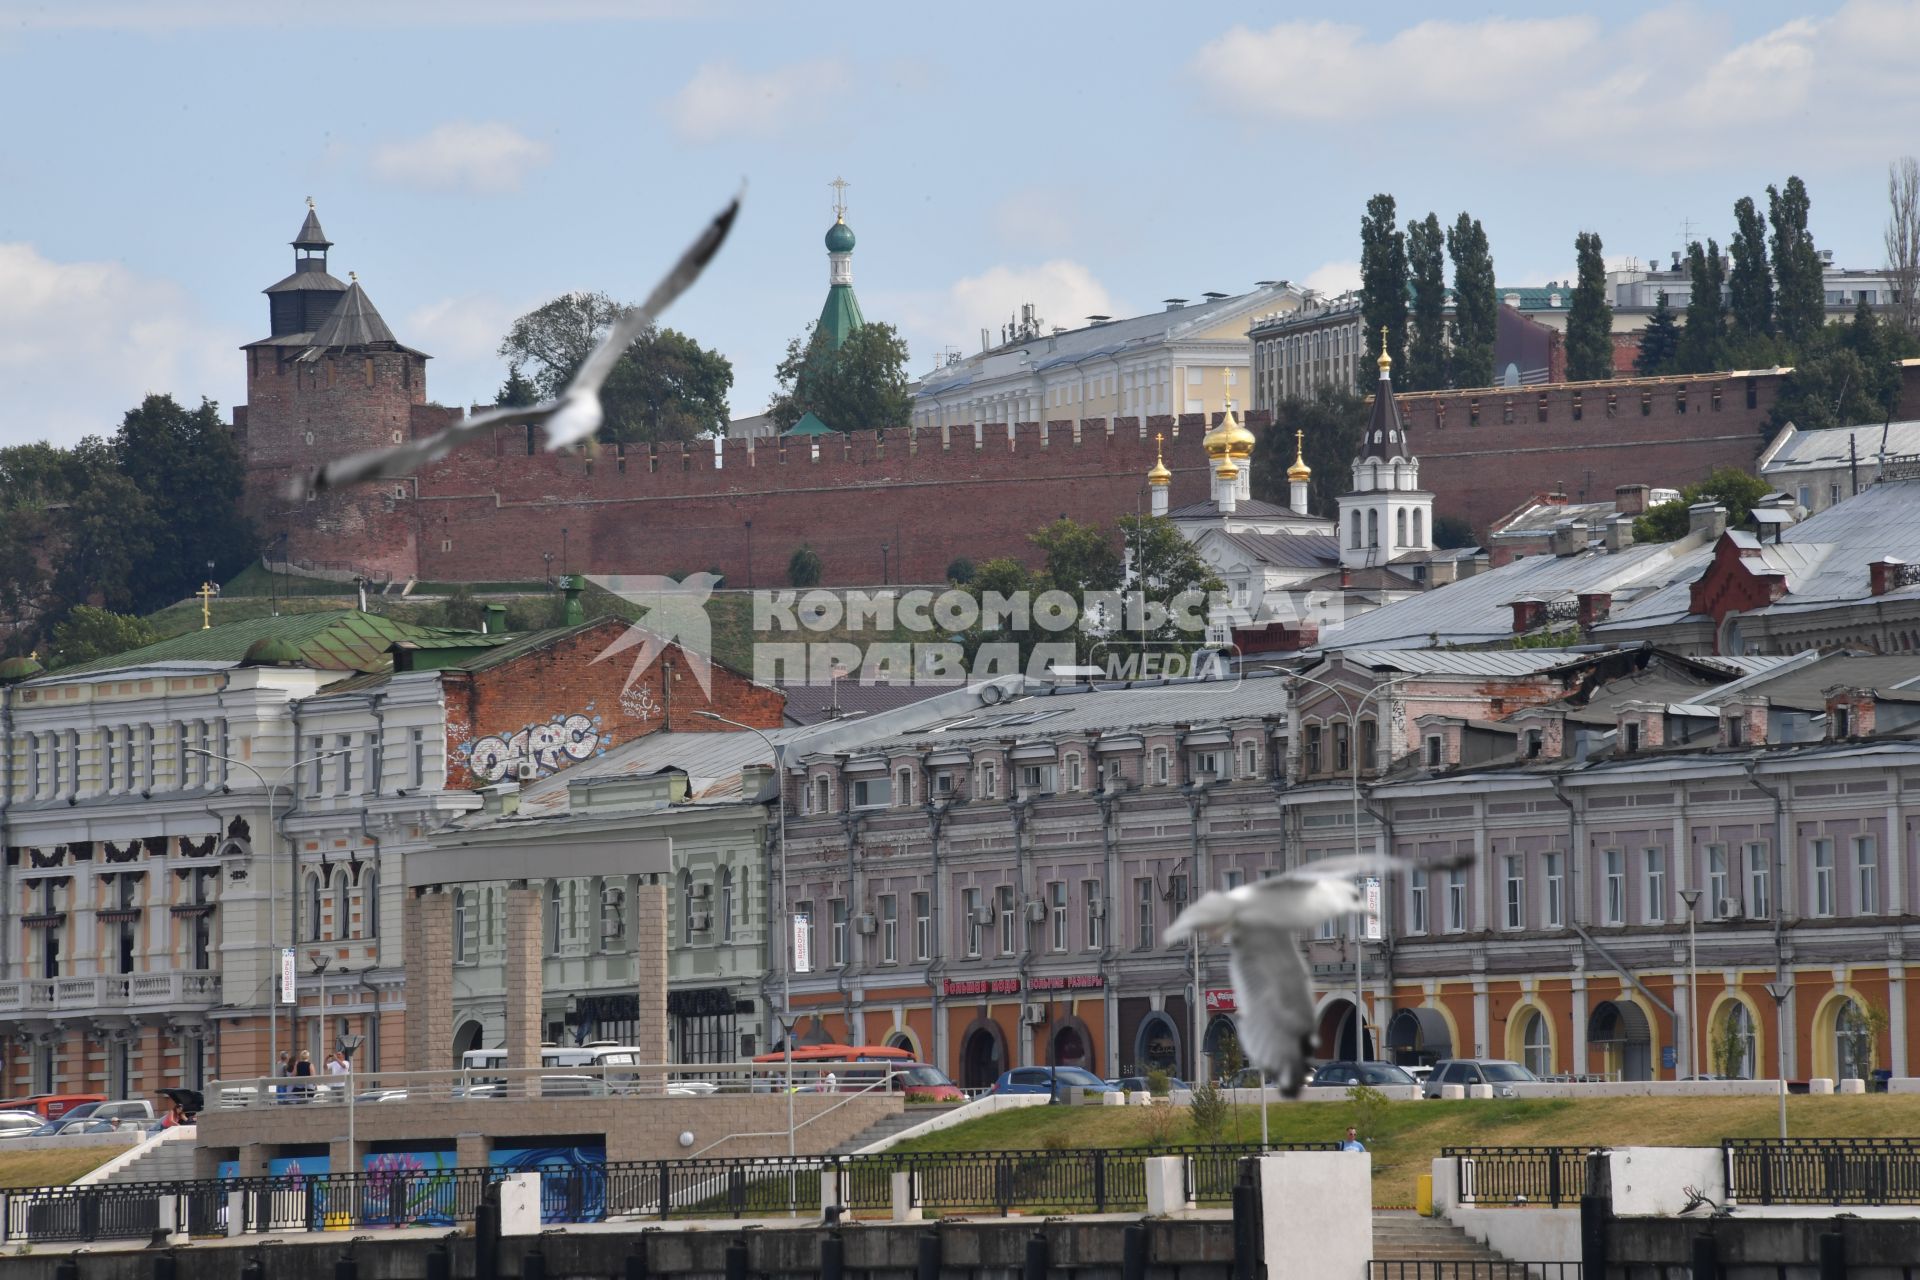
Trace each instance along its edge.
<instances>
[{"instance_id":1,"label":"pale blue sky with scattered clouds above the skyline","mask_svg":"<svg viewBox=\"0 0 1920 1280\"><path fill-rule=\"evenodd\" d=\"M440 403L492 401L541 301L641 297L743 182L664 319L733 361L739 416L820 313L835 177L914 374L1021 303L1352 286L1382 190L1542 284L1578 230L1724 244L1801 175L1816 242L1880 267L1914 65L1920 0L0 0L0 443L244 401L307 196Z\"/></svg>"}]
</instances>

